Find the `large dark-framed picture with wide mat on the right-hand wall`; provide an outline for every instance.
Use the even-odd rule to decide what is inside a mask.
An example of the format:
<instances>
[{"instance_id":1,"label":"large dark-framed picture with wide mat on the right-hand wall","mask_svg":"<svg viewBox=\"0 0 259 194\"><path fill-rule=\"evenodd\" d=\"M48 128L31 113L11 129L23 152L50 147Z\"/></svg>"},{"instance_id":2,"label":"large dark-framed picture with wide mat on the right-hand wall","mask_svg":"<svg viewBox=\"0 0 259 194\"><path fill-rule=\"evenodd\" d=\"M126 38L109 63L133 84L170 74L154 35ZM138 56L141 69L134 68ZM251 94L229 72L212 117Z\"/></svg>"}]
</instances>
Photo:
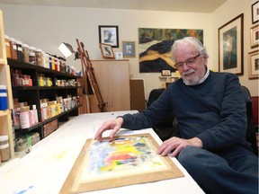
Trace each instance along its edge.
<instances>
[{"instance_id":1,"label":"large dark-framed picture with wide mat on the right-hand wall","mask_svg":"<svg viewBox=\"0 0 259 194\"><path fill-rule=\"evenodd\" d=\"M219 28L219 72L243 75L244 13Z\"/></svg>"}]
</instances>

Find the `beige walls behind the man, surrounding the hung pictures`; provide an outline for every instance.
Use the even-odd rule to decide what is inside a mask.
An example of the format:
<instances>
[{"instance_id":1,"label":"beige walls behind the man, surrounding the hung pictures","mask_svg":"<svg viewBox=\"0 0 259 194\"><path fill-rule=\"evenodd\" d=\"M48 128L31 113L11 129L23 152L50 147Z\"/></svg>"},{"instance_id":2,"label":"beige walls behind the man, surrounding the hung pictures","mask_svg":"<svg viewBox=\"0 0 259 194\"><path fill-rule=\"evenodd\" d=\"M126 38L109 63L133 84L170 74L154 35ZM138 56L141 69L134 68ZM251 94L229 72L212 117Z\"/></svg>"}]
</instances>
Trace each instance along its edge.
<instances>
[{"instance_id":1,"label":"beige walls behind the man, surrounding the hung pictures","mask_svg":"<svg viewBox=\"0 0 259 194\"><path fill-rule=\"evenodd\" d=\"M245 3L246 2L246 3ZM218 70L218 28L239 13L245 13L245 75L240 76L242 84L258 95L258 80L247 78L247 52L249 49L249 31L251 22L251 4L255 0L228 0L214 13L178 13L137 10L107 10L87 8L67 8L48 6L27 6L0 4L4 13L5 34L27 42L31 46L42 48L51 54L61 56L58 46L62 41L70 43L76 49L76 39L85 43L91 59L102 58L98 47L98 25L118 25L120 48L122 41L136 41L138 45L138 28L173 28L202 29L204 44L208 48L209 65L212 70ZM138 51L138 48L137 48ZM69 65L80 69L80 61L68 59ZM150 91L161 86L158 73L139 74L138 57L130 58L130 76L144 78L146 98Z\"/></svg>"}]
</instances>

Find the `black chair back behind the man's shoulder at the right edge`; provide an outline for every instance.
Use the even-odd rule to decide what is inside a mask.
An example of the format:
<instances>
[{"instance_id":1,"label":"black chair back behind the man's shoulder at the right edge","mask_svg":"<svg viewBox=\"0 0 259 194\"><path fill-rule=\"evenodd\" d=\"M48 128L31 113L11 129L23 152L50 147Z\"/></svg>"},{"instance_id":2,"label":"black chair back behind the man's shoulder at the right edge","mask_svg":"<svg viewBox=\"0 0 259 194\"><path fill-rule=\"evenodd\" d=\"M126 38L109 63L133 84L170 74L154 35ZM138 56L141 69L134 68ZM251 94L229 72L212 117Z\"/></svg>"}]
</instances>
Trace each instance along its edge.
<instances>
[{"instance_id":1,"label":"black chair back behind the man's shoulder at the right edge","mask_svg":"<svg viewBox=\"0 0 259 194\"><path fill-rule=\"evenodd\" d=\"M252 99L249 90L246 86L241 85L241 90L246 101L246 119L247 119L247 128L246 128L246 141L248 141L256 155L258 155L258 148L256 145L256 131L253 122L253 110L252 110Z\"/></svg>"}]
</instances>

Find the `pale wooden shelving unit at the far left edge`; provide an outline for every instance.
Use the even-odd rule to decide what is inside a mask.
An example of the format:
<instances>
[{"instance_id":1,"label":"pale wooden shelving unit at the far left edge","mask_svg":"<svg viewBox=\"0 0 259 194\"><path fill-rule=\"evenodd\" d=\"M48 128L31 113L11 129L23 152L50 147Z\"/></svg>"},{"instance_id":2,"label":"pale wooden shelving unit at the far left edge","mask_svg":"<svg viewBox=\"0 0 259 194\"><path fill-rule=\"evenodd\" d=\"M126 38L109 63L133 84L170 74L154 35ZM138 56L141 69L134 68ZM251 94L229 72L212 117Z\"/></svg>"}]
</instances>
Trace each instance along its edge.
<instances>
[{"instance_id":1,"label":"pale wooden shelving unit at the far left edge","mask_svg":"<svg viewBox=\"0 0 259 194\"><path fill-rule=\"evenodd\" d=\"M6 51L4 43L4 20L3 13L0 10L0 84L6 85L7 89L7 110L0 110L0 136L8 136L9 139L9 150L11 157L14 157L13 149L13 128L11 110L13 109L13 96L10 79L10 68L7 65ZM1 160L0 160L1 164Z\"/></svg>"}]
</instances>

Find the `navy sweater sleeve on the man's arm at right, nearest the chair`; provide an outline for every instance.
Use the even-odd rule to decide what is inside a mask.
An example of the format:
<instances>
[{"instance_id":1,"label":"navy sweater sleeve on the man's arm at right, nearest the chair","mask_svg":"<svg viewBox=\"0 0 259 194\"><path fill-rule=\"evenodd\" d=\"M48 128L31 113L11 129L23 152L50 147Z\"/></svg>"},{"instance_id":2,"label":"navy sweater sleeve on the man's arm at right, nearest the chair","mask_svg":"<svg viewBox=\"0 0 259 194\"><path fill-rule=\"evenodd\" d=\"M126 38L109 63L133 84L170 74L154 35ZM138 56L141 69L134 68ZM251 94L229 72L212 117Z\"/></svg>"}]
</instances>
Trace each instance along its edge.
<instances>
[{"instance_id":1,"label":"navy sweater sleeve on the man's arm at right, nearest the chair","mask_svg":"<svg viewBox=\"0 0 259 194\"><path fill-rule=\"evenodd\" d=\"M236 75L228 75L224 87L224 98L219 112L220 122L197 137L203 148L219 150L246 138L246 103Z\"/></svg>"}]
</instances>

